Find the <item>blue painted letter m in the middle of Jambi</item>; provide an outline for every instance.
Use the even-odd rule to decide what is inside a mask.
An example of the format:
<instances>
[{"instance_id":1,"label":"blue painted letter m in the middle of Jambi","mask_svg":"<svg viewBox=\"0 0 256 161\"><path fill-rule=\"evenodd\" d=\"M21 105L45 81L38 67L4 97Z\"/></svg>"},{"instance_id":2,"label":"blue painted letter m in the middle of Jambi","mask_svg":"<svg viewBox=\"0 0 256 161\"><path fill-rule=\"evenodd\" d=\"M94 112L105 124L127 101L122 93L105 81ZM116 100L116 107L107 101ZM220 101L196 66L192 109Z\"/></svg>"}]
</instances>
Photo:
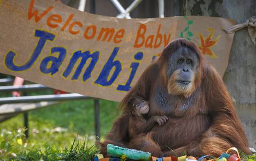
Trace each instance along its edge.
<instances>
[{"instance_id":1,"label":"blue painted letter m in the middle of Jambi","mask_svg":"<svg viewBox=\"0 0 256 161\"><path fill-rule=\"evenodd\" d=\"M79 58L82 58L80 64L78 65L78 67L76 68L76 72L73 75L72 79L78 79L83 66L86 64L87 60L89 58L92 58L91 63L89 64L89 66L86 68L86 72L84 72L83 74L83 81L86 81L88 78L91 77L91 73L94 69L95 64L97 63L98 59L99 59L99 52L94 52L93 54L90 54L90 51L86 51L86 52L81 52L81 51L77 51L73 54L72 58L70 59L69 65L66 68L65 72L62 74L62 76L64 77L68 77L71 73L71 71L74 68L75 63L78 61Z\"/></svg>"}]
</instances>

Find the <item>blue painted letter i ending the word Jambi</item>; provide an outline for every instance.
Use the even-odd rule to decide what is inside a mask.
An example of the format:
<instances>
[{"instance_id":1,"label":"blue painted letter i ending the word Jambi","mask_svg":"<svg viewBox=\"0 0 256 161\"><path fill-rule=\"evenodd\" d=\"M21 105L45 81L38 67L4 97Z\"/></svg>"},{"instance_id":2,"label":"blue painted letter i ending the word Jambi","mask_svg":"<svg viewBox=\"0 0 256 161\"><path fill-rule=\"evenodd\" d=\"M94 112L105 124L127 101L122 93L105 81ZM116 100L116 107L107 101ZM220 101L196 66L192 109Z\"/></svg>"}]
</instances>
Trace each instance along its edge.
<instances>
[{"instance_id":1,"label":"blue painted letter i ending the word Jambi","mask_svg":"<svg viewBox=\"0 0 256 161\"><path fill-rule=\"evenodd\" d=\"M141 60L142 58L143 58L143 53L142 52L139 52L139 53L137 53L137 54L135 54L135 56L134 56L134 58L136 59L136 60ZM133 81L133 78L134 78L134 76L135 76L135 74L136 74L136 71L137 71L137 69L138 69L138 66L139 66L139 64L140 63L138 63L138 62L133 62L132 64L131 64L131 68L132 68L132 71L131 71L131 73L130 73L130 76L129 76L129 78L128 78L128 80L127 80L127 82L125 83L125 85L118 85L117 86L117 90L122 90L122 91L129 91L130 89L131 89L131 83L132 83L132 81Z\"/></svg>"}]
</instances>

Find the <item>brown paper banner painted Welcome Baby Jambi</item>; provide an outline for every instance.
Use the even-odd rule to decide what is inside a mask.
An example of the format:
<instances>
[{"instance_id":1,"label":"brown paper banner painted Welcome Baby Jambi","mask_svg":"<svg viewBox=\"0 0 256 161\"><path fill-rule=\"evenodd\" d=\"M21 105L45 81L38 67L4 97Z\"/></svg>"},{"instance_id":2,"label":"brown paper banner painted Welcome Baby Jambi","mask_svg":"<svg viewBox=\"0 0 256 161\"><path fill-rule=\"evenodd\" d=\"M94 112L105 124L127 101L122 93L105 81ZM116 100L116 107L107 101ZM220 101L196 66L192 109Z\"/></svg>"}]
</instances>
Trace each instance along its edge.
<instances>
[{"instance_id":1,"label":"brown paper banner painted Welcome Baby Jambi","mask_svg":"<svg viewBox=\"0 0 256 161\"><path fill-rule=\"evenodd\" d=\"M180 16L118 19L50 0L0 1L0 73L120 101L176 38L195 42L221 76L234 21Z\"/></svg>"}]
</instances>

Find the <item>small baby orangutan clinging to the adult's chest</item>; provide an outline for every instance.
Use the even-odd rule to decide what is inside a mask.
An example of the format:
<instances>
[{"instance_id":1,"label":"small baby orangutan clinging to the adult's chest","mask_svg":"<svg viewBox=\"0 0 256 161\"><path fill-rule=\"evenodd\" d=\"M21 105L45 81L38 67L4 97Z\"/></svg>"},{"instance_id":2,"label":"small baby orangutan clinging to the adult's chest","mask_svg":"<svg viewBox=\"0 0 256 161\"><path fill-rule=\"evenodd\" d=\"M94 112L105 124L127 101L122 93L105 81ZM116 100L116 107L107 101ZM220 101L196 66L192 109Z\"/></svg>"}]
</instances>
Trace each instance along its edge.
<instances>
[{"instance_id":1,"label":"small baby orangutan clinging to the adult's chest","mask_svg":"<svg viewBox=\"0 0 256 161\"><path fill-rule=\"evenodd\" d=\"M138 134L150 131L156 123L163 125L167 122L166 116L153 116L146 120L150 106L147 101L141 97L132 97L128 103L131 111L129 119L129 140L134 139Z\"/></svg>"}]
</instances>

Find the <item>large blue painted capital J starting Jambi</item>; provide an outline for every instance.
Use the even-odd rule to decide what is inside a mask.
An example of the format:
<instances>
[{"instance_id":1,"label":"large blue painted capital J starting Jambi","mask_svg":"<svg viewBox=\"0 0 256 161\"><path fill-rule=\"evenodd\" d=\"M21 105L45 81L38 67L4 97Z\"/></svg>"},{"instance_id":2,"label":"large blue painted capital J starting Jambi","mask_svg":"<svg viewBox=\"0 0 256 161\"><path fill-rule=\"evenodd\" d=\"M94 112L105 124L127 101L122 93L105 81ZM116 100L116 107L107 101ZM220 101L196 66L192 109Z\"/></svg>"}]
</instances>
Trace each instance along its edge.
<instances>
[{"instance_id":1,"label":"large blue painted capital J starting Jambi","mask_svg":"<svg viewBox=\"0 0 256 161\"><path fill-rule=\"evenodd\" d=\"M29 61L21 66L17 66L14 63L14 57L15 57L15 53L10 51L5 58L5 65L7 68L9 68L9 70L12 71L25 71L28 70L36 61L36 59L38 58L38 56L40 55L42 48L44 48L44 45L46 43L47 40L52 41L55 37L55 35L46 32L46 31L41 31L41 30L35 30L35 37L39 37L39 41L37 43L37 46L33 52L33 54L31 55Z\"/></svg>"}]
</instances>

